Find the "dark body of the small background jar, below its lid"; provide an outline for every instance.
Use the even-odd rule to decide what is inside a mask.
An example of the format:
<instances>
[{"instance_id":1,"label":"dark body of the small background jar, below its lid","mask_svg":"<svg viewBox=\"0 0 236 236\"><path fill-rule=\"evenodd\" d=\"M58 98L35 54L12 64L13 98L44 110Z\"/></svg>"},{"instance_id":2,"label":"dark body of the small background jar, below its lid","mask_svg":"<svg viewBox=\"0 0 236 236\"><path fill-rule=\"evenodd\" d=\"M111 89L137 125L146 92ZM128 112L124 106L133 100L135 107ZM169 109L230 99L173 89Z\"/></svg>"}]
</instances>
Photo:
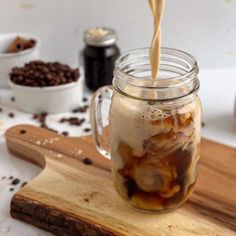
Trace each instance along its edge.
<instances>
[{"instance_id":1,"label":"dark body of the small background jar, below its lid","mask_svg":"<svg viewBox=\"0 0 236 236\"><path fill-rule=\"evenodd\" d=\"M84 49L84 69L88 88L96 90L112 84L114 64L119 55L120 51L116 45L86 46Z\"/></svg>"}]
</instances>

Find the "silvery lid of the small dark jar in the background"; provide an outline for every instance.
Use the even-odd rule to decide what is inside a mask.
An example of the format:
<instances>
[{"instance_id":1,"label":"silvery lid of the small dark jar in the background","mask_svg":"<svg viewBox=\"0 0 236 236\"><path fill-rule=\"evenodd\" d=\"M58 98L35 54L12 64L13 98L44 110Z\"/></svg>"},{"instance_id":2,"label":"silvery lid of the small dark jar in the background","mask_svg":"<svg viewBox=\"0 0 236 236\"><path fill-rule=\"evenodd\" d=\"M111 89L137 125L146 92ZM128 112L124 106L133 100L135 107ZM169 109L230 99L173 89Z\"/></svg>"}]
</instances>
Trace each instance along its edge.
<instances>
[{"instance_id":1,"label":"silvery lid of the small dark jar in the background","mask_svg":"<svg viewBox=\"0 0 236 236\"><path fill-rule=\"evenodd\" d=\"M84 32L84 42L90 46L104 47L115 44L116 31L107 27L94 27Z\"/></svg>"}]
</instances>

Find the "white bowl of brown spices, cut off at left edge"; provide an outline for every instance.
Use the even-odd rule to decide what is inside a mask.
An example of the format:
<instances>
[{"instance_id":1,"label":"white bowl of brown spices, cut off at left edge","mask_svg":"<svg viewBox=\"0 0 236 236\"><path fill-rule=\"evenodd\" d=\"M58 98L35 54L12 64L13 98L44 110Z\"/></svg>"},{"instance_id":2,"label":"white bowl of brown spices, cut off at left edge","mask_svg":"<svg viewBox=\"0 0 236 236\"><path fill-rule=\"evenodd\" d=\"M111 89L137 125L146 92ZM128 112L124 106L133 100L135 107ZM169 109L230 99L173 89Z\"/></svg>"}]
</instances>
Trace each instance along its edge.
<instances>
[{"instance_id":1,"label":"white bowl of brown spices, cut off at left edge","mask_svg":"<svg viewBox=\"0 0 236 236\"><path fill-rule=\"evenodd\" d=\"M0 87L9 87L9 73L15 66L39 58L40 40L23 33L0 34Z\"/></svg>"}]
</instances>

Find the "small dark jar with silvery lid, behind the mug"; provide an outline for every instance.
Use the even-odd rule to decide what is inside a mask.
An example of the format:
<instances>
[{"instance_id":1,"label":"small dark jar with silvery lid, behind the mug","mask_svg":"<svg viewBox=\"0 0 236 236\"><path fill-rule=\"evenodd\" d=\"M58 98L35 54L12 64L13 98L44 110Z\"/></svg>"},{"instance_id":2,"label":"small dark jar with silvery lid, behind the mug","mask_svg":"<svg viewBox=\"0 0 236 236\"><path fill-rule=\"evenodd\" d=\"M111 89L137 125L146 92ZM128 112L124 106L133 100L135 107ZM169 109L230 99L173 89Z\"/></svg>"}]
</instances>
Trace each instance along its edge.
<instances>
[{"instance_id":1,"label":"small dark jar with silvery lid, behind the mug","mask_svg":"<svg viewBox=\"0 0 236 236\"><path fill-rule=\"evenodd\" d=\"M116 32L110 28L91 28L85 31L85 82L91 90L112 84L114 64L120 55L116 41Z\"/></svg>"}]
</instances>

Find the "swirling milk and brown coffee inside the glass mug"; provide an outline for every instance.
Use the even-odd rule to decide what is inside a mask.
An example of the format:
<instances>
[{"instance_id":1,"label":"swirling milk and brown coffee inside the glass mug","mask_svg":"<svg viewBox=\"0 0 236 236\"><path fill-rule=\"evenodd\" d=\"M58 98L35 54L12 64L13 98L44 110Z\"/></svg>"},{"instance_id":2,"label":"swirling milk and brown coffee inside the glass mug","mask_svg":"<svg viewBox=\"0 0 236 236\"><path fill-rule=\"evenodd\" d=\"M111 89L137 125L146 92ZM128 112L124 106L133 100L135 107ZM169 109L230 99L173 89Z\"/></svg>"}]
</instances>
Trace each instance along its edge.
<instances>
[{"instance_id":1,"label":"swirling milk and brown coffee inside the glass mug","mask_svg":"<svg viewBox=\"0 0 236 236\"><path fill-rule=\"evenodd\" d=\"M119 194L134 207L166 211L192 193L199 160L200 101L172 109L113 98L113 179Z\"/></svg>"}]
</instances>

